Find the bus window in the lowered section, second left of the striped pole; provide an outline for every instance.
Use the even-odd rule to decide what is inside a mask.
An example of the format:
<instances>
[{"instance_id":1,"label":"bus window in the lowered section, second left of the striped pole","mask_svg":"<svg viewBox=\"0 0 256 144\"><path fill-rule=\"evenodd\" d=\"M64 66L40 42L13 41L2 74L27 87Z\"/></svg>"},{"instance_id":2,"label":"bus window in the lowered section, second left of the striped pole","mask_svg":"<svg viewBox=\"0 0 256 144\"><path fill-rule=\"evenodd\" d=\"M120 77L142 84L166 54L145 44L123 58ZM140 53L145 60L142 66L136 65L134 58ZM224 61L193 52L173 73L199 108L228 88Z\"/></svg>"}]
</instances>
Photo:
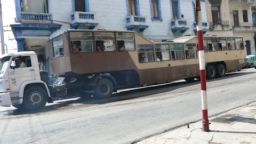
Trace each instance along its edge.
<instances>
[{"instance_id":1,"label":"bus window in the lowered section, second left of the striped pole","mask_svg":"<svg viewBox=\"0 0 256 144\"><path fill-rule=\"evenodd\" d=\"M171 44L170 46L171 46L172 60L183 60L184 59L183 44Z\"/></svg>"}]
</instances>

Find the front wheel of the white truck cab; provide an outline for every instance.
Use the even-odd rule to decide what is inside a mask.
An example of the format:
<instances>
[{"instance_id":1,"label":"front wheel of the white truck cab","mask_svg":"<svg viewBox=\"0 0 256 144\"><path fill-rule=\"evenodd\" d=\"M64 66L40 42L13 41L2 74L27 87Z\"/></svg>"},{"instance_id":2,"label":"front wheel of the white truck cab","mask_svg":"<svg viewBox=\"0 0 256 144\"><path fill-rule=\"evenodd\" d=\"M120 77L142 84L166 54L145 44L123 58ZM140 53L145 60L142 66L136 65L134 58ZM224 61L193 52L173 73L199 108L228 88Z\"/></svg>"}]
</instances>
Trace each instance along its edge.
<instances>
[{"instance_id":1,"label":"front wheel of the white truck cab","mask_svg":"<svg viewBox=\"0 0 256 144\"><path fill-rule=\"evenodd\" d=\"M37 110L45 106L47 93L38 86L31 86L24 92L23 108L25 110Z\"/></svg>"}]
</instances>

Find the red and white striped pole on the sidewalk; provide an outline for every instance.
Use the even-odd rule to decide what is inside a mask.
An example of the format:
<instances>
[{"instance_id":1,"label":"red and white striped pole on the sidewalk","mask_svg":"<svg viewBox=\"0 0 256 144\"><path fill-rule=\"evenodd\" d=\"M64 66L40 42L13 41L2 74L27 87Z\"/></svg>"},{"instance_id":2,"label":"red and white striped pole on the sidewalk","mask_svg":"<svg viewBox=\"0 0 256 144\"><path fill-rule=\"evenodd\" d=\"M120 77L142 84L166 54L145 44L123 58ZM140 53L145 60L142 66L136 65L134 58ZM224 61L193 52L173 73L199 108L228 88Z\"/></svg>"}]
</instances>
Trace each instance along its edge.
<instances>
[{"instance_id":1,"label":"red and white striped pole on the sidewalk","mask_svg":"<svg viewBox=\"0 0 256 144\"><path fill-rule=\"evenodd\" d=\"M203 111L203 128L205 132L209 130L209 119L207 110L207 93L206 93L206 74L205 74L205 57L204 57L204 44L203 44L203 27L200 0L196 0L196 28L198 39L198 52L199 52L199 68L201 78L201 97L202 97L202 111Z\"/></svg>"}]
</instances>

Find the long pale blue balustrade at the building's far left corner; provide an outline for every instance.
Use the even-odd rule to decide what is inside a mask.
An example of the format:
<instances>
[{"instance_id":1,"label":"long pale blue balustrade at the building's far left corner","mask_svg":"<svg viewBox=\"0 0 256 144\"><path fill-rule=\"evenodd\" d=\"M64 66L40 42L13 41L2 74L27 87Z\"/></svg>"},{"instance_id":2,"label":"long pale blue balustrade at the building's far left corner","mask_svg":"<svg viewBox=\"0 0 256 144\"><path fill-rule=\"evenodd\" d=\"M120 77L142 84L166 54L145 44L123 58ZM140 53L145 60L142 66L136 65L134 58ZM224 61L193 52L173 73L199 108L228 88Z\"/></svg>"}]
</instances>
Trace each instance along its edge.
<instances>
[{"instance_id":1,"label":"long pale blue balustrade at the building's far left corner","mask_svg":"<svg viewBox=\"0 0 256 144\"><path fill-rule=\"evenodd\" d=\"M51 21L52 14L50 13L33 13L33 12L20 12L21 20L33 21Z\"/></svg>"}]
</instances>

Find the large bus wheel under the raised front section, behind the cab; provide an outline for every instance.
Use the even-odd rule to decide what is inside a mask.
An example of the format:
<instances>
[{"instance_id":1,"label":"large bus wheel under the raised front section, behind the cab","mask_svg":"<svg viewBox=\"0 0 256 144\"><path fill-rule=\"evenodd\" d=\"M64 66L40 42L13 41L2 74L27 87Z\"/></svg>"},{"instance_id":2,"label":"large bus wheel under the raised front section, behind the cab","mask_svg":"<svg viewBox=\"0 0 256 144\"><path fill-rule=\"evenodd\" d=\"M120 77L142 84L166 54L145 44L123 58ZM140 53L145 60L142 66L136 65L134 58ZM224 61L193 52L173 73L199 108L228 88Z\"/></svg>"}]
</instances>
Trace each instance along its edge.
<instances>
[{"instance_id":1,"label":"large bus wheel under the raised front section, behind the cab","mask_svg":"<svg viewBox=\"0 0 256 144\"><path fill-rule=\"evenodd\" d=\"M106 99L111 97L113 92L113 84L106 78L99 79L97 82L94 93L98 99Z\"/></svg>"}]
</instances>

